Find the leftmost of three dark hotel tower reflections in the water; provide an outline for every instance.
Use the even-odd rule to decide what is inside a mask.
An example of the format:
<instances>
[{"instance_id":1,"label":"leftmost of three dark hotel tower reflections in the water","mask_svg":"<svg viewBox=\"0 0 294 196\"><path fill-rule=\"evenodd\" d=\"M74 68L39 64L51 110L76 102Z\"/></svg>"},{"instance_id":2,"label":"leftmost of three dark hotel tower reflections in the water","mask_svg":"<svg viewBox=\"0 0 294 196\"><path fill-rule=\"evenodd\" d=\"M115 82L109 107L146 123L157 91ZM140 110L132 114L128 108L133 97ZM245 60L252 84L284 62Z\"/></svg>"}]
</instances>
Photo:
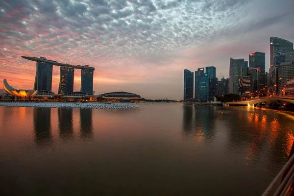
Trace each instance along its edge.
<instances>
[{"instance_id":1,"label":"leftmost of three dark hotel tower reflections in the water","mask_svg":"<svg viewBox=\"0 0 294 196\"><path fill-rule=\"evenodd\" d=\"M36 144L40 146L51 145L51 108L35 107L33 113Z\"/></svg>"}]
</instances>

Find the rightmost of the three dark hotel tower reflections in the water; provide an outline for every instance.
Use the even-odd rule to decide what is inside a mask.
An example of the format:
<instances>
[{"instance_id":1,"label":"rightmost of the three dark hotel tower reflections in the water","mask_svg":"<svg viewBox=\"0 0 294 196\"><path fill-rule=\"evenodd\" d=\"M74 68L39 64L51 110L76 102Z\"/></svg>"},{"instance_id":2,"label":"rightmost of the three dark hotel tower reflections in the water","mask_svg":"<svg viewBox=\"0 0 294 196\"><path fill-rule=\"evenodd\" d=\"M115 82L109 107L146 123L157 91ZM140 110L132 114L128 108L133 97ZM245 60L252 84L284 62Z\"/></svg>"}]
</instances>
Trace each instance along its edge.
<instances>
[{"instance_id":1,"label":"rightmost of the three dark hotel tower reflections in the water","mask_svg":"<svg viewBox=\"0 0 294 196\"><path fill-rule=\"evenodd\" d=\"M92 109L80 108L80 137L85 140L93 138Z\"/></svg>"}]
</instances>

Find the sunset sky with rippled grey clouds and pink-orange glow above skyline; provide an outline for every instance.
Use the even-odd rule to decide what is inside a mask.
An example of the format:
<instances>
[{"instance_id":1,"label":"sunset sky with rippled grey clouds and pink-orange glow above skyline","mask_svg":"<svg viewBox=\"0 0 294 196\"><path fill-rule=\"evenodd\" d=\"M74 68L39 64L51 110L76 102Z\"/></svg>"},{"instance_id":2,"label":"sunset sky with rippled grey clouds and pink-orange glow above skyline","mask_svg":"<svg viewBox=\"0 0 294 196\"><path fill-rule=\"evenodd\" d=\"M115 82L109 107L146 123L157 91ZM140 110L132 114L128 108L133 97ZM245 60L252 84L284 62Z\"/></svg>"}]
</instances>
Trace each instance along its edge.
<instances>
[{"instance_id":1,"label":"sunset sky with rippled grey clouds and pink-orange glow above skyline","mask_svg":"<svg viewBox=\"0 0 294 196\"><path fill-rule=\"evenodd\" d=\"M266 52L270 37L294 42L294 0L1 0L0 82L32 89L26 56L95 67L95 94L125 91L182 99L183 70ZM53 67L57 93L60 67ZM80 91L80 70L74 91Z\"/></svg>"}]
</instances>

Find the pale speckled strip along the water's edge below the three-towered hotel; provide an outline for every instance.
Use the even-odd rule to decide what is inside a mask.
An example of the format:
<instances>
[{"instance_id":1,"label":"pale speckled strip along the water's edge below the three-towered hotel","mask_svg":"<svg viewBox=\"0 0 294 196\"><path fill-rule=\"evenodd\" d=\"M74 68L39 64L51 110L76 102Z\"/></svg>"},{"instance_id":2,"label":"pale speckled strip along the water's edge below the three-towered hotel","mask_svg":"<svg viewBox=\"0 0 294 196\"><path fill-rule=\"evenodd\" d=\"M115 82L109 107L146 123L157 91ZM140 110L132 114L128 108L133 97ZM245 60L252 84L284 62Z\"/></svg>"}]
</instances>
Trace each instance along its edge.
<instances>
[{"instance_id":1,"label":"pale speckled strip along the water's edge below the three-towered hotel","mask_svg":"<svg viewBox=\"0 0 294 196\"><path fill-rule=\"evenodd\" d=\"M89 108L89 109L130 109L138 106L129 103L101 102L0 102L0 107L50 107L50 108Z\"/></svg>"}]
</instances>

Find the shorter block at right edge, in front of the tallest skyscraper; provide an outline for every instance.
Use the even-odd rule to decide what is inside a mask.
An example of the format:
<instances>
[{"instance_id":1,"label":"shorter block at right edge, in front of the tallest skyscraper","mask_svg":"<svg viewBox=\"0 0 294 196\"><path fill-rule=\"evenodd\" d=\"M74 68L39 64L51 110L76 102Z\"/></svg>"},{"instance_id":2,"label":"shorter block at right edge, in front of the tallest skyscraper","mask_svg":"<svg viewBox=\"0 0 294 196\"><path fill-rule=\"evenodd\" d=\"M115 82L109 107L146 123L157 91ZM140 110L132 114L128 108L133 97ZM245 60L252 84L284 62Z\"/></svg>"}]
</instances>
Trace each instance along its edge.
<instances>
[{"instance_id":1,"label":"shorter block at right edge, in front of the tallest skyscraper","mask_svg":"<svg viewBox=\"0 0 294 196\"><path fill-rule=\"evenodd\" d=\"M286 82L294 79L294 61L292 62L284 62L280 64L279 67L279 94L283 95L283 90Z\"/></svg>"}]
</instances>

